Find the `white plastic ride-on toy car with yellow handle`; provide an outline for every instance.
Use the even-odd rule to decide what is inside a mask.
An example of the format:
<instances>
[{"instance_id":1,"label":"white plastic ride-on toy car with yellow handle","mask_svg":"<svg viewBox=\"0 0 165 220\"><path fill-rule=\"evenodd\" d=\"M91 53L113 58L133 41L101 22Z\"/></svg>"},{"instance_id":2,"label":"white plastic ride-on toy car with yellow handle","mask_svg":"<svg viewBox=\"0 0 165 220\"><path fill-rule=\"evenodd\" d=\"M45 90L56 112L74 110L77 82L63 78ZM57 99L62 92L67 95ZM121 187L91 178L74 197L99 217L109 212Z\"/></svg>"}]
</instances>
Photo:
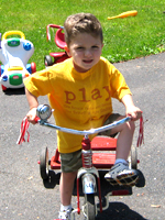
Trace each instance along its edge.
<instances>
[{"instance_id":1,"label":"white plastic ride-on toy car with yellow handle","mask_svg":"<svg viewBox=\"0 0 165 220\"><path fill-rule=\"evenodd\" d=\"M20 37L8 37L19 35ZM21 31L9 31L0 34L0 82L2 90L24 87L23 79L36 72L35 63L28 64L34 53L32 42L25 40Z\"/></svg>"}]
</instances>

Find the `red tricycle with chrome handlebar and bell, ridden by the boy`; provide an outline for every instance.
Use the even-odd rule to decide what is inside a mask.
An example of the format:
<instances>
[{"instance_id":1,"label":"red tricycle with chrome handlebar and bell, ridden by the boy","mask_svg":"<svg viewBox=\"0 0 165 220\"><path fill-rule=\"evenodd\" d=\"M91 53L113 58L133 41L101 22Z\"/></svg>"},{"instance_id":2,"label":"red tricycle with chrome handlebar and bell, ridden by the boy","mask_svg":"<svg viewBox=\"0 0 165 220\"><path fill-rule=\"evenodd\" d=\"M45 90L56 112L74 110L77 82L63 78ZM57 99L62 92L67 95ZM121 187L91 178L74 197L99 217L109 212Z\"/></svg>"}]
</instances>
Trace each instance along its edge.
<instances>
[{"instance_id":1,"label":"red tricycle with chrome handlebar and bell, ridden by the boy","mask_svg":"<svg viewBox=\"0 0 165 220\"><path fill-rule=\"evenodd\" d=\"M98 212L102 212L103 210L109 208L109 196L132 195L132 187L130 186L110 186L110 184L107 183L108 187L106 187L105 190L102 190L101 188L103 182L102 179L100 180L100 178L105 175L103 172L106 172L106 169L110 169L116 161L117 139L108 136L96 136L92 141L89 140L90 134L98 134L99 132L121 125L130 121L130 117L123 118L122 120L114 121L111 124L103 125L97 129L79 131L48 123L47 119L52 114L52 109L47 105L40 105L37 107L36 114L36 122L40 125L44 125L62 132L82 135L82 167L77 172L77 208L73 210L72 219L74 219L76 212L79 215L81 211L86 219L95 220ZM129 158L130 167L139 170L139 162L140 161L138 160L136 146L132 146L131 155ZM41 152L38 164L42 179L48 179L51 169L61 169L61 157L58 150L56 148L55 155L53 155L50 160L48 148L43 148ZM140 170L139 174L140 180L136 184L136 187L144 187L144 176ZM81 190L81 195L84 196L84 205L80 207L79 197ZM98 196L99 198L99 204L96 204L96 196Z\"/></svg>"}]
</instances>

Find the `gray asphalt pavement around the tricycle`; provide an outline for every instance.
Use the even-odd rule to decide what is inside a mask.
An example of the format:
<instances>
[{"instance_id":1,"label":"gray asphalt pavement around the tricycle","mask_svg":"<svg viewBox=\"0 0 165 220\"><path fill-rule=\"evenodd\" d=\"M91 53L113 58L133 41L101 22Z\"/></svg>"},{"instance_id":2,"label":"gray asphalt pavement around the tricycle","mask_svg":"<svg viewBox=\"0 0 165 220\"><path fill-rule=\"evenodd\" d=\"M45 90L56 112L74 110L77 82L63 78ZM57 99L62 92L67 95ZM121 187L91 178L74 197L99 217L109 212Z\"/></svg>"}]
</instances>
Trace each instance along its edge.
<instances>
[{"instance_id":1,"label":"gray asphalt pavement around the tricycle","mask_svg":"<svg viewBox=\"0 0 165 220\"><path fill-rule=\"evenodd\" d=\"M144 188L133 188L132 196L111 197L110 208L97 219L164 220L165 219L165 53L114 64L124 75L136 106L144 117L144 145L139 147L139 169L145 176ZM46 97L40 103L47 103ZM16 145L20 124L28 112L23 89L0 90L0 219L52 220L59 208L58 174L53 184L43 183L37 161L43 146L53 156L55 132L30 125L30 142ZM114 111L123 113L114 101ZM53 120L53 119L52 119ZM138 127L139 124L136 124ZM139 127L133 144L136 144ZM76 207L76 197L73 198ZM76 219L82 219L76 216Z\"/></svg>"}]
</instances>

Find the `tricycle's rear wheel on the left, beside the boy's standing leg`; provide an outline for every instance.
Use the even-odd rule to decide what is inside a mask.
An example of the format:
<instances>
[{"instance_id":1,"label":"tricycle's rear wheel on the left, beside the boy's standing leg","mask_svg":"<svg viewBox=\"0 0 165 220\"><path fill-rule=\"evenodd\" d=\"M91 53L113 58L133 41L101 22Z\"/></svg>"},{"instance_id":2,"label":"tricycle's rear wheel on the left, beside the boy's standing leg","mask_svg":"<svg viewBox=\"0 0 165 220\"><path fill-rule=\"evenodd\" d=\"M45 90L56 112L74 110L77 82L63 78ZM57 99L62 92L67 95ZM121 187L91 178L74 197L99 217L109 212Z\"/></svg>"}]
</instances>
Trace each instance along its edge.
<instances>
[{"instance_id":1,"label":"tricycle's rear wheel on the left, beside the boy's standing leg","mask_svg":"<svg viewBox=\"0 0 165 220\"><path fill-rule=\"evenodd\" d=\"M45 147L40 155L40 174L44 180L48 178L48 148Z\"/></svg>"}]
</instances>

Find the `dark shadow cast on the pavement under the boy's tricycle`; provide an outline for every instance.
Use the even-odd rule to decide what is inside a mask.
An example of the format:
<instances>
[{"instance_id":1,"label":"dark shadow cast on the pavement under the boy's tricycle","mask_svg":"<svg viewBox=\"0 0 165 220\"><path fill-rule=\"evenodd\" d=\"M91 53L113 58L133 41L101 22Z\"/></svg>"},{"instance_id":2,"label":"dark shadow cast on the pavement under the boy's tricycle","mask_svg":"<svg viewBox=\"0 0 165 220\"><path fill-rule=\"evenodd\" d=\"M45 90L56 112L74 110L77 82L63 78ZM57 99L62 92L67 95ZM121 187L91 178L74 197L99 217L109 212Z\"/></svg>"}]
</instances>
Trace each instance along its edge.
<instances>
[{"instance_id":1,"label":"dark shadow cast on the pavement under the boy's tricycle","mask_svg":"<svg viewBox=\"0 0 165 220\"><path fill-rule=\"evenodd\" d=\"M112 187L110 184L105 180L105 172L100 173L100 180L101 180L101 196L102 196L102 206L105 207L103 198L107 195L107 193L112 190L122 190L128 189L129 195L132 195L132 188L131 187ZM142 173L141 173L142 175ZM142 175L143 177L143 175ZM59 185L59 178L61 178L61 172L55 173L54 170L50 170L48 173L48 179L43 180L45 188L55 188L56 185ZM145 182L145 179L143 179ZM144 183L143 183L144 184ZM142 184L142 185L143 185ZM142 187L142 186L138 186ZM82 187L81 187L81 180L79 186L79 196L84 196L82 194ZM77 196L77 187L76 187L76 180L75 180L75 187L73 191L73 196ZM102 213L98 212L96 220L147 220L143 218L140 213L135 212L134 210L131 210L123 202L109 202L109 208L107 210L103 210Z\"/></svg>"}]
</instances>

